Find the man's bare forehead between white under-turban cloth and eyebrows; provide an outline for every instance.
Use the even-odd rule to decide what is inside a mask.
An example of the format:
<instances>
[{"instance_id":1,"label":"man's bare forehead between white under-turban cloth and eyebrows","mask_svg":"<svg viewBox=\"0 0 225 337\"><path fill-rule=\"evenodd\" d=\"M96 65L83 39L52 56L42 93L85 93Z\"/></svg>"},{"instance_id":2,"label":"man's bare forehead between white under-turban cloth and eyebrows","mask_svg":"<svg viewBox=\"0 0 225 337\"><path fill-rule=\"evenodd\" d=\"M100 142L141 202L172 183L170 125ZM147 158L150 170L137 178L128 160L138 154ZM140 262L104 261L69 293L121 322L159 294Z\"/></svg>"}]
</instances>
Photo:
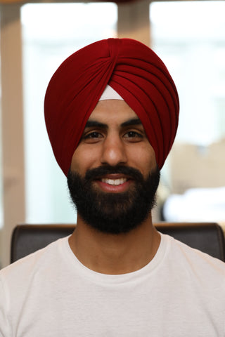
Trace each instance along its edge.
<instances>
[{"instance_id":1,"label":"man's bare forehead between white under-turban cloth and eyebrows","mask_svg":"<svg viewBox=\"0 0 225 337\"><path fill-rule=\"evenodd\" d=\"M122 124L129 119L138 118L134 110L124 100L101 100L91 112L89 121Z\"/></svg>"}]
</instances>

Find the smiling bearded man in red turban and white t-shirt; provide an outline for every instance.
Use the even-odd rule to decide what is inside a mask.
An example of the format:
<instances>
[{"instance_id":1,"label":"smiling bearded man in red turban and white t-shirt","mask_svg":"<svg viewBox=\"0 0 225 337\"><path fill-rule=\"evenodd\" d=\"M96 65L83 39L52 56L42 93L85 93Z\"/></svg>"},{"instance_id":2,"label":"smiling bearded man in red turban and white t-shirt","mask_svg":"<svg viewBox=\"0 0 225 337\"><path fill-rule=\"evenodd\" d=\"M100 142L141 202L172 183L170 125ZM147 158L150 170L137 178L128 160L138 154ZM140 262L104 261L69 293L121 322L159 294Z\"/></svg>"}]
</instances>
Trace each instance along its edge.
<instances>
[{"instance_id":1,"label":"smiling bearded man in red turban and white t-shirt","mask_svg":"<svg viewBox=\"0 0 225 337\"><path fill-rule=\"evenodd\" d=\"M178 114L167 68L138 41L60 65L45 117L77 227L1 271L0 336L225 336L224 263L151 219Z\"/></svg>"}]
</instances>

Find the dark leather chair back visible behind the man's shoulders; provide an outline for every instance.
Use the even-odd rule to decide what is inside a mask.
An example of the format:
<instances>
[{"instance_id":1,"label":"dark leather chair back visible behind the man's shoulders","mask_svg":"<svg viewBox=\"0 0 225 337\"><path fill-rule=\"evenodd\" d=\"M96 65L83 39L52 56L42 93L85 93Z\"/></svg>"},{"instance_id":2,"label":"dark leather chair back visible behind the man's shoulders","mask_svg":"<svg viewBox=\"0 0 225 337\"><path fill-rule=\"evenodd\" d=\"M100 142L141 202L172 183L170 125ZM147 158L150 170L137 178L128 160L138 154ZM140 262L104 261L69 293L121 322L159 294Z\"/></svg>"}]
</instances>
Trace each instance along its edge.
<instances>
[{"instance_id":1,"label":"dark leather chair back visible behind the man's shoulders","mask_svg":"<svg viewBox=\"0 0 225 337\"><path fill-rule=\"evenodd\" d=\"M155 223L159 232L225 261L224 233L217 223ZM17 225L11 239L11 263L75 230L75 225Z\"/></svg>"}]
</instances>

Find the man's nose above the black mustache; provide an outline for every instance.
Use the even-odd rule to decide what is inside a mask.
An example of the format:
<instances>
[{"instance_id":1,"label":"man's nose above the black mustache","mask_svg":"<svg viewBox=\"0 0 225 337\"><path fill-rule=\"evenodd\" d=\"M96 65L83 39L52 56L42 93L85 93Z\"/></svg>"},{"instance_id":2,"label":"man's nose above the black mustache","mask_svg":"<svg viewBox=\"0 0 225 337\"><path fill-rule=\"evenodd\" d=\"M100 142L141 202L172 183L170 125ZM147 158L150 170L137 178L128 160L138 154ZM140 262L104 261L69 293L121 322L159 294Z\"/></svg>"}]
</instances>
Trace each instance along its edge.
<instances>
[{"instance_id":1,"label":"man's nose above the black mustache","mask_svg":"<svg viewBox=\"0 0 225 337\"><path fill-rule=\"evenodd\" d=\"M127 152L125 144L120 136L108 136L104 143L101 154L101 164L116 166L127 163Z\"/></svg>"}]
</instances>

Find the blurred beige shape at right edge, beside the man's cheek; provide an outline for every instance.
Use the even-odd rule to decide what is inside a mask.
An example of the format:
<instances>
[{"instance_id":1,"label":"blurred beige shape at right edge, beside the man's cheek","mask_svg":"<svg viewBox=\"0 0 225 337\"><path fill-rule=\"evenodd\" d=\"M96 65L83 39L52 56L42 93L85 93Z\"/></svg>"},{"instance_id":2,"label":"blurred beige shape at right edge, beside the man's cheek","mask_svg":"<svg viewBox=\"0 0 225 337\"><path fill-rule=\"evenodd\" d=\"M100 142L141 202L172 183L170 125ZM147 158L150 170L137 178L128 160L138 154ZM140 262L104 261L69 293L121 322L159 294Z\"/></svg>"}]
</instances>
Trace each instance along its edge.
<instances>
[{"instance_id":1,"label":"blurred beige shape at right edge, beside the man's cheek","mask_svg":"<svg viewBox=\"0 0 225 337\"><path fill-rule=\"evenodd\" d=\"M174 143L169 154L170 194L225 186L225 138L208 146Z\"/></svg>"}]
</instances>

